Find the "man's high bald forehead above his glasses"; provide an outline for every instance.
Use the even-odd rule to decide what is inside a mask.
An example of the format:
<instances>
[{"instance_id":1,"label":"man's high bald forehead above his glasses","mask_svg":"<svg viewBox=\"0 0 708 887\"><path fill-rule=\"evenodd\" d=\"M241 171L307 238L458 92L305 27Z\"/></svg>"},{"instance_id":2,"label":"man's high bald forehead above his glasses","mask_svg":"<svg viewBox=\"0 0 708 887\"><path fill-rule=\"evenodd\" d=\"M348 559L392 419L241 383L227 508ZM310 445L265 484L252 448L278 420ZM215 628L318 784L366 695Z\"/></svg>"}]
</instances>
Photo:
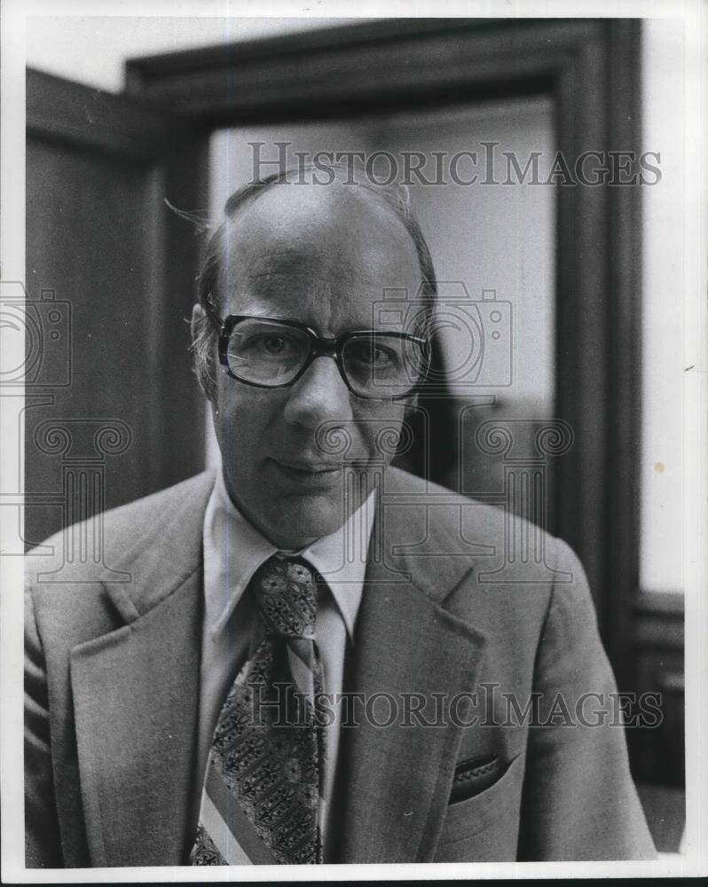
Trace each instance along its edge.
<instances>
[{"instance_id":1,"label":"man's high bald forehead above his glasses","mask_svg":"<svg viewBox=\"0 0 708 887\"><path fill-rule=\"evenodd\" d=\"M413 299L421 267L409 232L365 189L272 185L224 238L228 313L277 312L322 327L368 325L385 289Z\"/></svg>"}]
</instances>

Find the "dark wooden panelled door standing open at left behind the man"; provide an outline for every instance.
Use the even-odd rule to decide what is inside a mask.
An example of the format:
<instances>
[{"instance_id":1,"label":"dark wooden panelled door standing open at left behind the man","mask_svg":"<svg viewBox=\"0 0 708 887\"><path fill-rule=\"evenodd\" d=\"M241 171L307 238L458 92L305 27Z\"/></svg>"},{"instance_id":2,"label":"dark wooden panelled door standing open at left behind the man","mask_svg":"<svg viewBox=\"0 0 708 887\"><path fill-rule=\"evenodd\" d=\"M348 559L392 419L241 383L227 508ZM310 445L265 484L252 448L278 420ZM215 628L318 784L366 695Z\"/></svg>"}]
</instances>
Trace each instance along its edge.
<instances>
[{"instance_id":1,"label":"dark wooden panelled door standing open at left behind the man","mask_svg":"<svg viewBox=\"0 0 708 887\"><path fill-rule=\"evenodd\" d=\"M29 546L201 468L185 324L199 244L163 200L204 205L206 142L137 99L36 71L27 90L28 346L42 339L25 412Z\"/></svg>"}]
</instances>

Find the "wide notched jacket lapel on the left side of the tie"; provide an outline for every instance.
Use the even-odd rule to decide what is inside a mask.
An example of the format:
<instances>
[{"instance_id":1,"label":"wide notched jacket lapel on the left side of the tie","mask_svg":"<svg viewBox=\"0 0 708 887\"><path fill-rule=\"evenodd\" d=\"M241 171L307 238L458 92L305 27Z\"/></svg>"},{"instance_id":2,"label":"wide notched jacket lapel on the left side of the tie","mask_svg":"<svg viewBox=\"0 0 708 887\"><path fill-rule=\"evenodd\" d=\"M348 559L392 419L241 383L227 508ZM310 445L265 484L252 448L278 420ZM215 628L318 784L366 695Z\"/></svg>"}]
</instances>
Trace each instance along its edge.
<instances>
[{"instance_id":1,"label":"wide notched jacket lapel on the left side of the tie","mask_svg":"<svg viewBox=\"0 0 708 887\"><path fill-rule=\"evenodd\" d=\"M130 569L130 585L106 584L127 624L72 650L95 866L184 861L198 725L201 522L209 491L205 480L193 495L164 503L161 513L169 516L161 523L146 522L140 542L118 561Z\"/></svg>"}]
</instances>

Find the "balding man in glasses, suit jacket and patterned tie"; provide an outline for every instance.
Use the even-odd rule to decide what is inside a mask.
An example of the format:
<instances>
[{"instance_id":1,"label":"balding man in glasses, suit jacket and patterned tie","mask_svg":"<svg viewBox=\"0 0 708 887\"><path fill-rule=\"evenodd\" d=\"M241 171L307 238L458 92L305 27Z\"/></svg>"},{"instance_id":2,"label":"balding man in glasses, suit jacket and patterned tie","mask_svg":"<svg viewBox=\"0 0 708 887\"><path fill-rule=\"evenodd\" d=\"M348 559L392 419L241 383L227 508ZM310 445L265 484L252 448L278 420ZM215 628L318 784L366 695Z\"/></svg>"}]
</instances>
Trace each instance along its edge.
<instances>
[{"instance_id":1,"label":"balding man in glasses, suit jacket and patterned tie","mask_svg":"<svg viewBox=\"0 0 708 887\"><path fill-rule=\"evenodd\" d=\"M223 470L105 515L129 583L30 559L28 866L654 855L577 558L494 583L505 515L387 467L411 294L394 192L229 201L193 313Z\"/></svg>"}]
</instances>

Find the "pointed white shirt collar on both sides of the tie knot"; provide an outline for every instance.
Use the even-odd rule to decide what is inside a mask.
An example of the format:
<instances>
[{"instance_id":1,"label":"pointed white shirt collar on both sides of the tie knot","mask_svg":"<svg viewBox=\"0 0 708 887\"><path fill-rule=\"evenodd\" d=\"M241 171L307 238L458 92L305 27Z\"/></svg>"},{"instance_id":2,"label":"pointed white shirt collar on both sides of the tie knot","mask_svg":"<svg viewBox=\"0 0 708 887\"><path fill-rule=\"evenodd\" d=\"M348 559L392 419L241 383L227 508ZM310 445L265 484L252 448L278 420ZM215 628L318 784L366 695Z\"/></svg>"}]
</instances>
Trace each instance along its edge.
<instances>
[{"instance_id":1,"label":"pointed white shirt collar on both sides of the tie knot","mask_svg":"<svg viewBox=\"0 0 708 887\"><path fill-rule=\"evenodd\" d=\"M364 588L375 501L374 491L338 530L297 552L326 580L350 640ZM206 618L217 637L256 569L279 551L233 504L220 468L204 514L203 542Z\"/></svg>"}]
</instances>

